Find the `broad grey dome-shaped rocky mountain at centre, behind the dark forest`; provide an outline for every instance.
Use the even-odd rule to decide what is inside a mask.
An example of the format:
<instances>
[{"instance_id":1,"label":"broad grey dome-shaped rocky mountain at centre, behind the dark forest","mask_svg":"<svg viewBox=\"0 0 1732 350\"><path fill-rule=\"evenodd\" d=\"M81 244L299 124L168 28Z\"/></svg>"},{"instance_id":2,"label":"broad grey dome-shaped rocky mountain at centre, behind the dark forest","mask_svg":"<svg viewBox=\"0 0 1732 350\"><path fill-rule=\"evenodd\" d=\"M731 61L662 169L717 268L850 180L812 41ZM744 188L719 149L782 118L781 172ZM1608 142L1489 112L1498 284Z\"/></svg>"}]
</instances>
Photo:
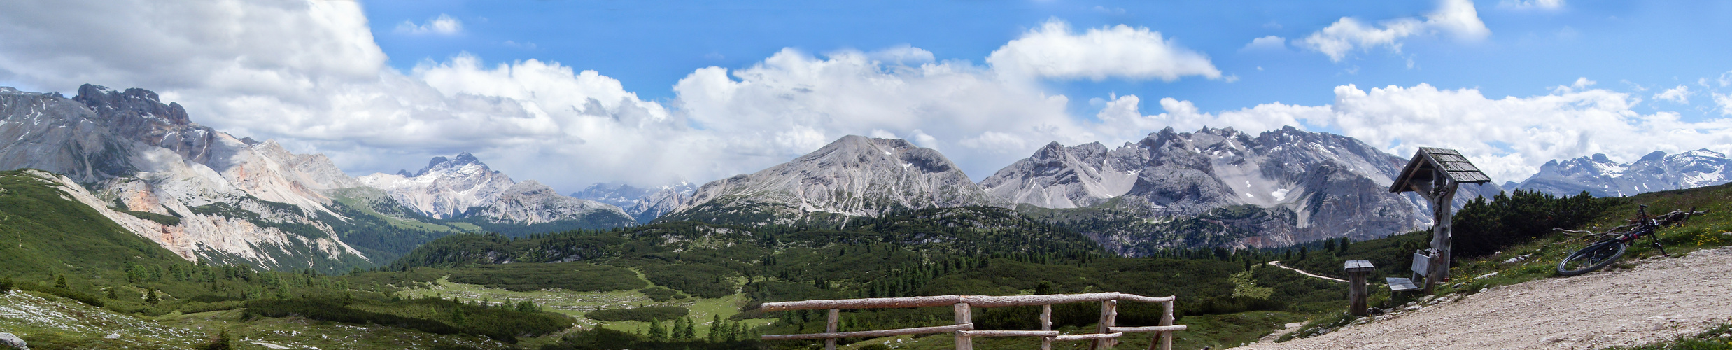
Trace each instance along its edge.
<instances>
[{"instance_id":1,"label":"broad grey dome-shaped rocky mountain at centre, behind the dark forest","mask_svg":"<svg viewBox=\"0 0 1732 350\"><path fill-rule=\"evenodd\" d=\"M901 139L847 135L788 163L705 184L672 215L750 208L779 222L816 211L869 217L975 204L1008 203L982 191L939 151Z\"/></svg>"}]
</instances>

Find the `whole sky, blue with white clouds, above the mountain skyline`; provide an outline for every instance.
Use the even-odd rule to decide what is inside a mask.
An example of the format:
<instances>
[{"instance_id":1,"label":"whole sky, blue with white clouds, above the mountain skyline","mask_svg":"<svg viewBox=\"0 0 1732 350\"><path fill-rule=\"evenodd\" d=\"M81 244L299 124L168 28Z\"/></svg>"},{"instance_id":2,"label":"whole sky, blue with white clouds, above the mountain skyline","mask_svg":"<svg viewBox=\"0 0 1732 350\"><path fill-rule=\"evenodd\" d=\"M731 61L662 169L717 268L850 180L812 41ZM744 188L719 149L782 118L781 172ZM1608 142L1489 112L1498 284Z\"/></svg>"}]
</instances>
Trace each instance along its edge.
<instances>
[{"instance_id":1,"label":"whole sky, blue with white clouds, above the mountain skyline","mask_svg":"<svg viewBox=\"0 0 1732 350\"><path fill-rule=\"evenodd\" d=\"M0 85L142 87L353 175L473 152L570 192L757 172L842 135L973 178L1181 132L1455 147L1496 182L1732 152L1727 2L26 2Z\"/></svg>"}]
</instances>

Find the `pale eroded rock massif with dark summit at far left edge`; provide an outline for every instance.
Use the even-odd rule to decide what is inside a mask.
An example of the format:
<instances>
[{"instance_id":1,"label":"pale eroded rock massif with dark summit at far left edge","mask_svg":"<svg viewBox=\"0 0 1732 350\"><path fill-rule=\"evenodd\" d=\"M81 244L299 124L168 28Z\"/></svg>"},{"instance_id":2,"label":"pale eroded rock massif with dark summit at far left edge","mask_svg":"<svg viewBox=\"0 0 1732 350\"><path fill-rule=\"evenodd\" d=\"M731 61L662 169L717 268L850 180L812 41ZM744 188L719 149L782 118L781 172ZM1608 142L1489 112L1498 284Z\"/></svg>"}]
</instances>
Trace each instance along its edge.
<instances>
[{"instance_id":1,"label":"pale eroded rock massif with dark summit at far left edge","mask_svg":"<svg viewBox=\"0 0 1732 350\"><path fill-rule=\"evenodd\" d=\"M359 182L324 156L192 123L184 107L163 104L154 92L85 85L64 99L3 88L0 135L0 168L52 172L43 178L182 258L288 269L365 262L317 220L331 213L322 189ZM282 229L289 225L320 232Z\"/></svg>"}]
</instances>

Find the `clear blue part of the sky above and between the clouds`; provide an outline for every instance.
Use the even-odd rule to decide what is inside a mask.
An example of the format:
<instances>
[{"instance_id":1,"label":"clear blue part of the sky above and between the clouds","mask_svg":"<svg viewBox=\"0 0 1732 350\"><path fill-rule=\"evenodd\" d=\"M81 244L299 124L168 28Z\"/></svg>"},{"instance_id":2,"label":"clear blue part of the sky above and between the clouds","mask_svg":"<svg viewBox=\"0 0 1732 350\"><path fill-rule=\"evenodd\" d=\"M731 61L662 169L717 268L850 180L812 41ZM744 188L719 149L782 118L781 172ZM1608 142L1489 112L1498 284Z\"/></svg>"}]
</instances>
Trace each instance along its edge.
<instances>
[{"instance_id":1,"label":"clear blue part of the sky above and between the clouds","mask_svg":"<svg viewBox=\"0 0 1732 350\"><path fill-rule=\"evenodd\" d=\"M1732 12L1723 2L1571 2L1561 9L1477 2L1493 29L1483 42L1438 36L1405 40L1401 50L1356 50L1341 62L1287 47L1247 50L1261 36L1302 38L1341 17L1422 17L1434 2L365 2L371 28L391 66L471 52L487 62L558 61L618 78L646 99L705 66L746 68L781 49L824 54L911 45L939 61L982 59L1050 19L1074 28L1128 24L1202 52L1238 81L1055 80L1072 97L1134 94L1192 100L1202 109L1263 102L1328 104L1337 85L1479 88L1490 97L1545 94L1576 78L1638 92L1715 80L1732 62ZM410 35L409 23L450 16L459 35ZM1718 33L1718 35L1716 35ZM1718 38L1718 40L1715 40ZM528 47L533 43L533 47ZM1412 62L1412 66L1410 66ZM1259 69L1261 68L1261 69ZM1625 83L1628 81L1628 83ZM1074 111L1098 106L1074 99ZM1675 106L1664 106L1668 111ZM1685 118L1713 111L1677 109ZM1651 111L1645 107L1642 111Z\"/></svg>"}]
</instances>

